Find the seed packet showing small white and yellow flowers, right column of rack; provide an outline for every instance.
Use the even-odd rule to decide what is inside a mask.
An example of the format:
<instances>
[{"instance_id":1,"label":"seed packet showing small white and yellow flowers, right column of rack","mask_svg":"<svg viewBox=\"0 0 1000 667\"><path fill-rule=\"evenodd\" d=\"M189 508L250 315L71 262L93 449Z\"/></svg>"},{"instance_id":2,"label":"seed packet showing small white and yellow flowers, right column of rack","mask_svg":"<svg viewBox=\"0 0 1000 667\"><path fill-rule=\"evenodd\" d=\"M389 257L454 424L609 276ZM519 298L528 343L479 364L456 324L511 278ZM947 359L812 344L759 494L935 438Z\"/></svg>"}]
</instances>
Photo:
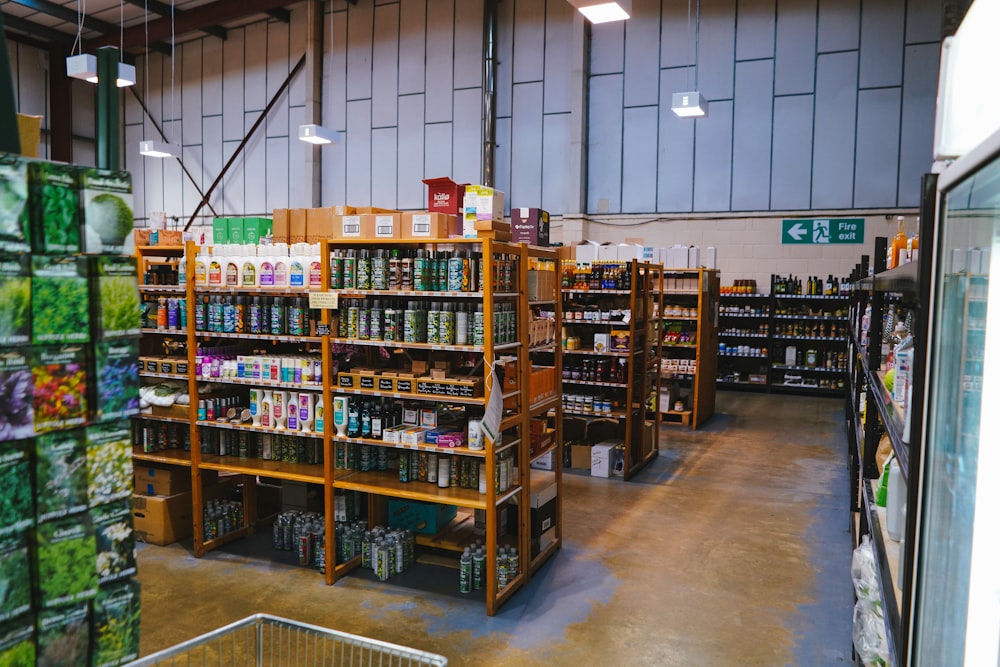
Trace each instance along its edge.
<instances>
[{"instance_id":1,"label":"seed packet showing small white and yellow flowers, right column of rack","mask_svg":"<svg viewBox=\"0 0 1000 667\"><path fill-rule=\"evenodd\" d=\"M91 507L132 495L132 439L128 420L87 429L87 497Z\"/></svg>"}]
</instances>

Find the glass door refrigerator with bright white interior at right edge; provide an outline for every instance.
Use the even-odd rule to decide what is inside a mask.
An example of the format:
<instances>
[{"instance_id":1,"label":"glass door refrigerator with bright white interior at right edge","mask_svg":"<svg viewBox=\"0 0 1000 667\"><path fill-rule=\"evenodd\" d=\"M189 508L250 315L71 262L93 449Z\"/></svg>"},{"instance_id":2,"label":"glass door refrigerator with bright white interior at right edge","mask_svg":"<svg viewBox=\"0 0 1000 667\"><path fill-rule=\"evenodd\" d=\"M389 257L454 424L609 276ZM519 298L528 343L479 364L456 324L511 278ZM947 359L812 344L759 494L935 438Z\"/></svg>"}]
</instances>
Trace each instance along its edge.
<instances>
[{"instance_id":1,"label":"glass door refrigerator with bright white interior at right edge","mask_svg":"<svg viewBox=\"0 0 1000 667\"><path fill-rule=\"evenodd\" d=\"M997 667L1000 132L941 173L937 210L907 664Z\"/></svg>"}]
</instances>

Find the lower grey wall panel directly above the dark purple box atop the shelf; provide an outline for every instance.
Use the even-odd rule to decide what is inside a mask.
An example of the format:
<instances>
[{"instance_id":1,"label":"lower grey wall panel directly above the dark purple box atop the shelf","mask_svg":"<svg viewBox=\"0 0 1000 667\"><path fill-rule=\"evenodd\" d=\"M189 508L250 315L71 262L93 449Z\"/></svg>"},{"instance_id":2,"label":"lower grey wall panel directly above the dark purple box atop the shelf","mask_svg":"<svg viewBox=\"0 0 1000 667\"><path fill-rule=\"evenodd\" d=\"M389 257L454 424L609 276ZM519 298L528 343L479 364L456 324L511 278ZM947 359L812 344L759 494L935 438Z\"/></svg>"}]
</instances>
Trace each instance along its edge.
<instances>
[{"instance_id":1,"label":"lower grey wall panel directly above the dark purple box atop the shelf","mask_svg":"<svg viewBox=\"0 0 1000 667\"><path fill-rule=\"evenodd\" d=\"M510 203L516 206L537 206L522 202L542 200L542 179L538 166L542 142L542 84L514 85L514 125L510 151ZM517 202L515 204L515 202Z\"/></svg>"}]
</instances>

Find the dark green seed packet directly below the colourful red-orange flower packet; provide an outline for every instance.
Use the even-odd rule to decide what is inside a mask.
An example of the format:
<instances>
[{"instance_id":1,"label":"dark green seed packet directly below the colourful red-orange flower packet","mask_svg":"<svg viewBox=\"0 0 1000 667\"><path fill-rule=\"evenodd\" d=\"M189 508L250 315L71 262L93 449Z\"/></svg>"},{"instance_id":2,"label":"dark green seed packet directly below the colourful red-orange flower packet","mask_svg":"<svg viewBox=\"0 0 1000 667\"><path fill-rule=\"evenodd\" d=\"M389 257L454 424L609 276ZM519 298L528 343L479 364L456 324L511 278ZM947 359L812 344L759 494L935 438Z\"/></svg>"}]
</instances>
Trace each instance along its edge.
<instances>
[{"instance_id":1,"label":"dark green seed packet directly below the colourful red-orange flower packet","mask_svg":"<svg viewBox=\"0 0 1000 667\"><path fill-rule=\"evenodd\" d=\"M87 445L82 428L35 438L38 521L87 509Z\"/></svg>"}]
</instances>

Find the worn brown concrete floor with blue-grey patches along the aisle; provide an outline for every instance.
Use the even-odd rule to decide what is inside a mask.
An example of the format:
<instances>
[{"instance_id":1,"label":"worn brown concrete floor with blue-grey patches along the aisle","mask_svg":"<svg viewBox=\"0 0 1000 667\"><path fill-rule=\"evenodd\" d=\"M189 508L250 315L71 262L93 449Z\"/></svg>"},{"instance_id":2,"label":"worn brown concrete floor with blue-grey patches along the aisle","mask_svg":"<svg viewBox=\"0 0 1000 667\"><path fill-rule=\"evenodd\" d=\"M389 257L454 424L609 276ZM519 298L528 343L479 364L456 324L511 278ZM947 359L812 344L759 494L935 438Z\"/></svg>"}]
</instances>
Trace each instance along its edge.
<instances>
[{"instance_id":1,"label":"worn brown concrete floor with blue-grey patches along the aisle","mask_svg":"<svg viewBox=\"0 0 1000 667\"><path fill-rule=\"evenodd\" d=\"M494 618L391 581L327 587L311 570L143 545L142 654L268 612L450 665L850 664L842 401L722 392L702 429L663 439L630 483L564 476L565 546Z\"/></svg>"}]
</instances>

